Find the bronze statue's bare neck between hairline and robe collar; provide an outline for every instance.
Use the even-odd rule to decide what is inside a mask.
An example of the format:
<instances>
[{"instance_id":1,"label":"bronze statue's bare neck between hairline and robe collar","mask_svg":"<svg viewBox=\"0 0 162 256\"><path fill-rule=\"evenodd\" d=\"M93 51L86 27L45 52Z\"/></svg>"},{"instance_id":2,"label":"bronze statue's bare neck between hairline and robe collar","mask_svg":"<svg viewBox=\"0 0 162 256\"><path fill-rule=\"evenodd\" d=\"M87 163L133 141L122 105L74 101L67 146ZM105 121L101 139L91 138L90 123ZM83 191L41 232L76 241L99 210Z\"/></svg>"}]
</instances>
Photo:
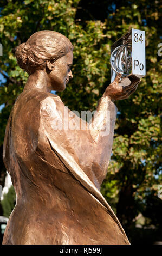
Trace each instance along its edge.
<instances>
[{"instance_id":1,"label":"bronze statue's bare neck between hairline and robe collar","mask_svg":"<svg viewBox=\"0 0 162 256\"><path fill-rule=\"evenodd\" d=\"M41 92L50 92L51 87L47 85L46 72L44 70L36 70L29 75L24 90L38 89Z\"/></svg>"}]
</instances>

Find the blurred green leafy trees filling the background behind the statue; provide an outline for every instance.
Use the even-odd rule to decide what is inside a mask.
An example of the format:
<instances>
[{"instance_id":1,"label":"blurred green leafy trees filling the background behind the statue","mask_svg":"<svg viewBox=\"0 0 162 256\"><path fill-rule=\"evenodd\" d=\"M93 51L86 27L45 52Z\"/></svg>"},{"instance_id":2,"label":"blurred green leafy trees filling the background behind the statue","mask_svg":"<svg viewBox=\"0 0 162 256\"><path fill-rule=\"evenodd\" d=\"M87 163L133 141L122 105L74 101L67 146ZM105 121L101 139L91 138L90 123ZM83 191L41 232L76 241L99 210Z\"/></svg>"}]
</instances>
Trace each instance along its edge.
<instances>
[{"instance_id":1,"label":"blurred green leafy trees filling the background behind the statue","mask_svg":"<svg viewBox=\"0 0 162 256\"><path fill-rule=\"evenodd\" d=\"M118 117L113 154L101 192L131 243L162 241L162 201L157 196L162 184L160 1L0 0L0 6L1 155L11 108L28 78L14 57L18 45L43 29L66 35L74 45L74 78L58 94L71 110L93 111L110 83L111 45L131 28L145 31L146 77L128 100L115 102ZM2 158L0 168L0 184L4 186ZM14 202L12 192L8 198ZM9 215L11 205L2 201L0 215Z\"/></svg>"}]
</instances>

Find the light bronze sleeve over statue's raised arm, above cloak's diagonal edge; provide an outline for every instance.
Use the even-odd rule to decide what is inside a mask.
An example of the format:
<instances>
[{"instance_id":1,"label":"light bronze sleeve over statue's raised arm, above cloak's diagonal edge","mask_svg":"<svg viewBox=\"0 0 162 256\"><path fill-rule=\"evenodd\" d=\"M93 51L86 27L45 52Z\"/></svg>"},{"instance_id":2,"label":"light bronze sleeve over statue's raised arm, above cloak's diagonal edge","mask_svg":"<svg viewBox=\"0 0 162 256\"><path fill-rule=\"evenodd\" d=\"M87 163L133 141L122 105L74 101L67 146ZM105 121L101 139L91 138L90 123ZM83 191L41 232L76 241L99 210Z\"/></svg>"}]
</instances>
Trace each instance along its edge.
<instances>
[{"instance_id":1,"label":"light bronze sleeve over statue's raised arm, above cloak's diagonal edge","mask_svg":"<svg viewBox=\"0 0 162 256\"><path fill-rule=\"evenodd\" d=\"M49 141L59 143L73 156L98 188L107 174L115 118L116 107L106 98L99 100L90 123L64 106L59 96L49 96L41 103L41 122Z\"/></svg>"}]
</instances>

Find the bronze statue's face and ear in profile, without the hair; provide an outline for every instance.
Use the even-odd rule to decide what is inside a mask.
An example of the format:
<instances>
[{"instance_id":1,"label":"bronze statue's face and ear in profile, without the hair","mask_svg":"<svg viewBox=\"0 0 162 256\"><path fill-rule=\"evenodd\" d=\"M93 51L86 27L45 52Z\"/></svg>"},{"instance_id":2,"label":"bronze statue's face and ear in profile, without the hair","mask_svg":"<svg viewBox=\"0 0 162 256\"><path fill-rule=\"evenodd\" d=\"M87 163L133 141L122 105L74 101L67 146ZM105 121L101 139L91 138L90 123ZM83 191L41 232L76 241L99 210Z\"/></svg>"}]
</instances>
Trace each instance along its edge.
<instances>
[{"instance_id":1,"label":"bronze statue's face and ear in profile, without the hair","mask_svg":"<svg viewBox=\"0 0 162 256\"><path fill-rule=\"evenodd\" d=\"M66 88L70 78L73 78L71 66L73 64L73 52L68 52L65 56L57 59L56 62L46 62L47 83L53 90L62 92Z\"/></svg>"}]
</instances>

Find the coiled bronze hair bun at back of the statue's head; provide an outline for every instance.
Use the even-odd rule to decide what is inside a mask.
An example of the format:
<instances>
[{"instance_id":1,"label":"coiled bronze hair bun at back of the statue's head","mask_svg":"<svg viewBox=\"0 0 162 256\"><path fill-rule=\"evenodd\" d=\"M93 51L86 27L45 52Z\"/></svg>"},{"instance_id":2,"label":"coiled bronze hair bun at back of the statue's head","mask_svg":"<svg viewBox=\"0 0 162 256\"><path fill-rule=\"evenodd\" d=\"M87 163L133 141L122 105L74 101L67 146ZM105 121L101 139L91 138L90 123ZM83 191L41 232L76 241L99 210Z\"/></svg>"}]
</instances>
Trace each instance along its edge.
<instances>
[{"instance_id":1,"label":"coiled bronze hair bun at back of the statue's head","mask_svg":"<svg viewBox=\"0 0 162 256\"><path fill-rule=\"evenodd\" d=\"M16 49L15 56L17 59L17 63L20 66L20 68L25 69L25 66L27 65L27 52L30 49L30 45L23 42L23 44L19 45Z\"/></svg>"}]
</instances>

